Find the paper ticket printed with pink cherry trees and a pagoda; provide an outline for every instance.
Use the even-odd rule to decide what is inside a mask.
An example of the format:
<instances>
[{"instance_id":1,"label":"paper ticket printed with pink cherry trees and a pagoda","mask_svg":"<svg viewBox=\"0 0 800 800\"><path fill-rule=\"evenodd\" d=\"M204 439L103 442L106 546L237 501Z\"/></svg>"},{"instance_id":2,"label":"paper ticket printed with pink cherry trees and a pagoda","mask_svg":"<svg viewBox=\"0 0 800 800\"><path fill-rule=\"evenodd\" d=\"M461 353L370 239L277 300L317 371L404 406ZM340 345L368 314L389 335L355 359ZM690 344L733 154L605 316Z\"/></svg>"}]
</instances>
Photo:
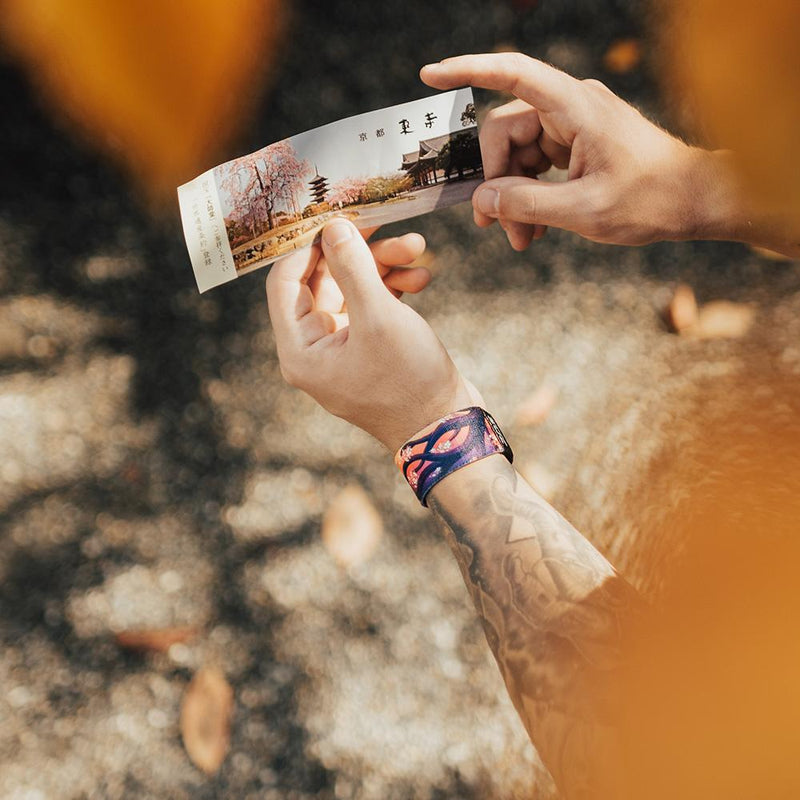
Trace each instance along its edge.
<instances>
[{"instance_id":1,"label":"paper ticket printed with pink cherry trees and a pagoda","mask_svg":"<svg viewBox=\"0 0 800 800\"><path fill-rule=\"evenodd\" d=\"M197 287L205 292L318 240L472 196L483 164L471 89L332 122L204 172L178 188Z\"/></svg>"}]
</instances>

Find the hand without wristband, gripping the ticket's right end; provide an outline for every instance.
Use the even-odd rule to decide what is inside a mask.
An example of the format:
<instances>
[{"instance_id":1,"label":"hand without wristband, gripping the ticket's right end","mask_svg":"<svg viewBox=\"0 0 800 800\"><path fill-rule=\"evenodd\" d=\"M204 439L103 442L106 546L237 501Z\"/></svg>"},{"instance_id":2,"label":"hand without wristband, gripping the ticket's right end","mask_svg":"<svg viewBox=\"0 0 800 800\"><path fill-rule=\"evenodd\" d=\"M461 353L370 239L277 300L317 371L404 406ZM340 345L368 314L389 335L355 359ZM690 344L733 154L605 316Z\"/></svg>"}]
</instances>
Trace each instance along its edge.
<instances>
[{"instance_id":1,"label":"hand without wristband, gripping the ticket's right end","mask_svg":"<svg viewBox=\"0 0 800 800\"><path fill-rule=\"evenodd\" d=\"M468 84L518 98L482 125L487 180L472 198L476 223L500 220L515 249L548 225L611 244L701 232L714 154L670 136L598 81L519 53L448 58L420 75L437 89ZM565 182L536 179L551 165L568 170Z\"/></svg>"}]
</instances>

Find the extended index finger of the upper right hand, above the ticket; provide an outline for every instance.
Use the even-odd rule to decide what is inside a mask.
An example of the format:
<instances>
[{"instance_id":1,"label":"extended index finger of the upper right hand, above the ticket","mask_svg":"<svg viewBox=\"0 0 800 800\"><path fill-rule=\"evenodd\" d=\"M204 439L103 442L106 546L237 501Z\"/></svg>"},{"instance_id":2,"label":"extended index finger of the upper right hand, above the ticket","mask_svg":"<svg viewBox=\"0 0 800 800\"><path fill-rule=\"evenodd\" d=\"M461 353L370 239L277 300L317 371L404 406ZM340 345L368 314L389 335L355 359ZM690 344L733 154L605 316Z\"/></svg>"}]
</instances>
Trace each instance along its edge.
<instances>
[{"instance_id":1,"label":"extended index finger of the upper right hand, above the ticket","mask_svg":"<svg viewBox=\"0 0 800 800\"><path fill-rule=\"evenodd\" d=\"M420 77L435 89L477 86L510 92L541 111L571 105L580 81L549 64L522 53L485 53L446 58L426 64Z\"/></svg>"}]
</instances>

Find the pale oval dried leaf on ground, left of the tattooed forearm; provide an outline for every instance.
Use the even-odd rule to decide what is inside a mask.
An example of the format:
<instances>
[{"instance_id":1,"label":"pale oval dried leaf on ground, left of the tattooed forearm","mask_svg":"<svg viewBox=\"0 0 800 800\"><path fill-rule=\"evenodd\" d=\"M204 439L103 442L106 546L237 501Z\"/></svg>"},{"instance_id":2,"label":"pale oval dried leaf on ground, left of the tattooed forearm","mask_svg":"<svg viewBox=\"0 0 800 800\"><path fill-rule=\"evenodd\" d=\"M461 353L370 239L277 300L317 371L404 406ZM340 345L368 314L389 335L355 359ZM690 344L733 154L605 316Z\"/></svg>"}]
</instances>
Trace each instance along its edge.
<instances>
[{"instance_id":1,"label":"pale oval dried leaf on ground, left of the tattooed forearm","mask_svg":"<svg viewBox=\"0 0 800 800\"><path fill-rule=\"evenodd\" d=\"M380 514L360 486L342 489L322 518L322 542L345 567L366 561L382 533Z\"/></svg>"}]
</instances>

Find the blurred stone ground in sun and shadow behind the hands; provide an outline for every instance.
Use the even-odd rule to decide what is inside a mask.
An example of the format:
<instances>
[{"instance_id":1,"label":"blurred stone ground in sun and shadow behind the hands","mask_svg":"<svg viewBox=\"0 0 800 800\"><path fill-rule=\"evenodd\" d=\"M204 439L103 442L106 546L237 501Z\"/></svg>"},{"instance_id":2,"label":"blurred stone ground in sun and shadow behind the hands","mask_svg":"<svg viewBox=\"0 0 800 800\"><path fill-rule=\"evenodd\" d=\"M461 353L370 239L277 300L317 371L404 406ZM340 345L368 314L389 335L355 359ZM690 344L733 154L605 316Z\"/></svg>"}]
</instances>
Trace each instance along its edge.
<instances>
[{"instance_id":1,"label":"blurred stone ground in sun and shadow behind the hands","mask_svg":"<svg viewBox=\"0 0 800 800\"><path fill-rule=\"evenodd\" d=\"M470 0L432 20L428 3L297 4L277 88L230 155L422 96L420 64L498 46L669 119L646 69L603 71L608 45L640 34L638 3L523 5ZM264 274L199 296L177 217L148 217L9 67L0 94L0 796L551 797L455 564L391 459L282 383ZM765 348L798 369L800 268L734 245L625 250L558 232L515 254L464 206L406 227L435 255L414 304L523 471L655 590L629 546L653 509L623 509L703 387ZM756 303L753 333L668 334L679 281ZM555 409L515 425L542 384ZM345 570L319 523L350 484L385 533ZM113 637L182 625L201 634L165 654ZM178 731L203 664L235 693L212 778Z\"/></svg>"}]
</instances>

